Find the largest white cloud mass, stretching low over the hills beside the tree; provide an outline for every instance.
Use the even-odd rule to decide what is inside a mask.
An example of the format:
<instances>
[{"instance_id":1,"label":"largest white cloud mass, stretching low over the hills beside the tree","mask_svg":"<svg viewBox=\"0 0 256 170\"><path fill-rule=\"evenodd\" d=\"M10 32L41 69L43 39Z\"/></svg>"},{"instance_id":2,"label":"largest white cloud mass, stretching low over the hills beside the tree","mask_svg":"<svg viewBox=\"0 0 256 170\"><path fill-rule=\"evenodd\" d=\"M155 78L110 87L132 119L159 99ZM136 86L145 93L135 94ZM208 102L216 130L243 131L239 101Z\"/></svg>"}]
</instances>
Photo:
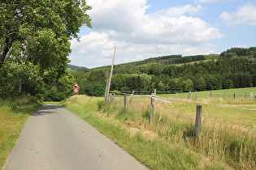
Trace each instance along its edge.
<instances>
[{"instance_id":1,"label":"largest white cloud mass, stretching low over the hills beside the tree","mask_svg":"<svg viewBox=\"0 0 256 170\"><path fill-rule=\"evenodd\" d=\"M177 6L146 14L145 0L87 0L93 30L72 40L72 64L87 66L111 65L114 48L115 63L135 62L148 57L170 54L214 53L210 40L223 37L219 30L202 19L185 16L200 14L204 8ZM179 12L178 12L179 11Z\"/></svg>"}]
</instances>

